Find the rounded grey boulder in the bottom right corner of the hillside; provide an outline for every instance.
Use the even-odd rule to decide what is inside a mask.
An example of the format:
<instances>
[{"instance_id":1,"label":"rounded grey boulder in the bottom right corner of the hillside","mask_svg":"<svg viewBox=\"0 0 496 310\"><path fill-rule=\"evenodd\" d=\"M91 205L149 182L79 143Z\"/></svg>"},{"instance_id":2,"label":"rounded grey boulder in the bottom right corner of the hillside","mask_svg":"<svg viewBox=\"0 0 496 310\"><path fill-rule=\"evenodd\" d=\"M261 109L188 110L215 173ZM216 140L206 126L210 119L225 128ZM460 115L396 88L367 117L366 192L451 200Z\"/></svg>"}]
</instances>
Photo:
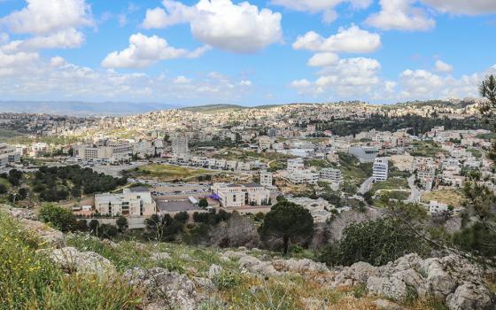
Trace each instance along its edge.
<instances>
[{"instance_id":1,"label":"rounded grey boulder in the bottom right corner of the hillside","mask_svg":"<svg viewBox=\"0 0 496 310\"><path fill-rule=\"evenodd\" d=\"M493 310L496 300L484 285L463 283L446 298L446 305L449 310Z\"/></svg>"}]
</instances>

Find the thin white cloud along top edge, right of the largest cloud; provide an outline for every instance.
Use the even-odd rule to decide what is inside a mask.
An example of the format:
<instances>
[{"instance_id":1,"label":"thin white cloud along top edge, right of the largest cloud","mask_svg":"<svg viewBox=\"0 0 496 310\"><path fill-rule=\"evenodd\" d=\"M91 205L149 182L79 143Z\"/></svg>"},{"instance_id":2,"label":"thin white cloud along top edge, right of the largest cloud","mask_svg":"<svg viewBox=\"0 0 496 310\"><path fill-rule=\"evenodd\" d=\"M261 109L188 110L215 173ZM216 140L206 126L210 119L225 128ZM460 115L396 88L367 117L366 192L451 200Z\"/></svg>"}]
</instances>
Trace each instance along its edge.
<instances>
[{"instance_id":1,"label":"thin white cloud along top edge, right of the largest cloud","mask_svg":"<svg viewBox=\"0 0 496 310\"><path fill-rule=\"evenodd\" d=\"M323 21L330 23L337 19L335 8L338 4L349 3L353 9L366 9L372 0L272 0L270 3L299 12L323 12Z\"/></svg>"}]
</instances>

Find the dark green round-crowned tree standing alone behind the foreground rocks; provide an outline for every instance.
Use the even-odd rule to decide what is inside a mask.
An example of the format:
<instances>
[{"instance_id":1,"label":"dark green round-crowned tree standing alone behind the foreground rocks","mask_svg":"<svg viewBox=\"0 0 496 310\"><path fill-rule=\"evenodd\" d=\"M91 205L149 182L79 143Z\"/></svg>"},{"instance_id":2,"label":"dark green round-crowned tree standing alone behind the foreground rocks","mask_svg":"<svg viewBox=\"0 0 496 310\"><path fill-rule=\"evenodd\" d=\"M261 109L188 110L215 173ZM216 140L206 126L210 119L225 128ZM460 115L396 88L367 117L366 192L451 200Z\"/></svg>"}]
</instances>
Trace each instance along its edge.
<instances>
[{"instance_id":1,"label":"dark green round-crowned tree standing alone behind the foreground rocks","mask_svg":"<svg viewBox=\"0 0 496 310\"><path fill-rule=\"evenodd\" d=\"M271 237L283 240L283 253L288 252L291 242L307 240L314 234L314 218L305 208L289 201L272 206L259 229L262 240Z\"/></svg>"}]
</instances>

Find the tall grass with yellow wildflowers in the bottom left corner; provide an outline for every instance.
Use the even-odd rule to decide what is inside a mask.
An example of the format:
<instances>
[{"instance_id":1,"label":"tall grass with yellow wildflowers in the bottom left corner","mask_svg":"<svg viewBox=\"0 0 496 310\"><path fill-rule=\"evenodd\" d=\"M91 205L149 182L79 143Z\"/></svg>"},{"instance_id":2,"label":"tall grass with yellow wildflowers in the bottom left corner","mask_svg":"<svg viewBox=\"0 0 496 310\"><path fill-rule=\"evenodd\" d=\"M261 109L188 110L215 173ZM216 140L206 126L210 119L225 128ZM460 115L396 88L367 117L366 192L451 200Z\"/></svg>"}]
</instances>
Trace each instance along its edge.
<instances>
[{"instance_id":1,"label":"tall grass with yellow wildflowers in the bottom left corner","mask_svg":"<svg viewBox=\"0 0 496 310\"><path fill-rule=\"evenodd\" d=\"M45 244L0 213L0 309L134 309L139 291L120 276L66 275Z\"/></svg>"}]
</instances>

